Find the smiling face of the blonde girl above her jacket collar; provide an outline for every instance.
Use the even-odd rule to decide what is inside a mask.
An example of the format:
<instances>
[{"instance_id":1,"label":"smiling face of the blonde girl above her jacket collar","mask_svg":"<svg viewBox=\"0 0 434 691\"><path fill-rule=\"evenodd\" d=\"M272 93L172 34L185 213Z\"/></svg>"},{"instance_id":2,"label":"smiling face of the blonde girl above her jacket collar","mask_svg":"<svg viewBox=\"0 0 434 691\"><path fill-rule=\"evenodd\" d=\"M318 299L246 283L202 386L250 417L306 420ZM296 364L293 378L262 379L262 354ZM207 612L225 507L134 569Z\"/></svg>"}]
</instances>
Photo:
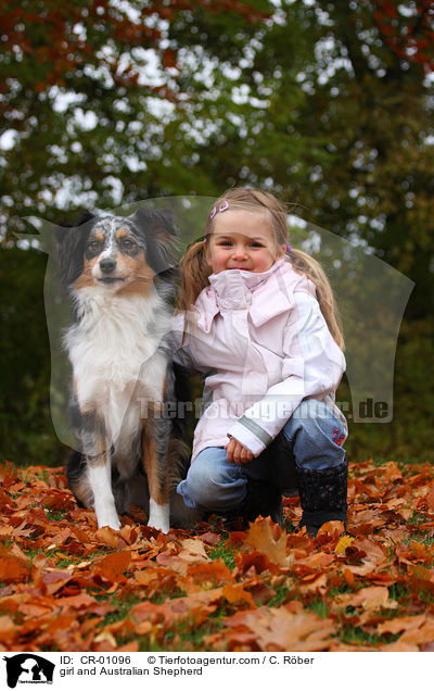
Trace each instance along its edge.
<instances>
[{"instance_id":1,"label":"smiling face of the blonde girl above her jacket collar","mask_svg":"<svg viewBox=\"0 0 434 691\"><path fill-rule=\"evenodd\" d=\"M213 274L228 268L261 274L285 253L276 244L265 213L229 209L217 213L206 247Z\"/></svg>"}]
</instances>

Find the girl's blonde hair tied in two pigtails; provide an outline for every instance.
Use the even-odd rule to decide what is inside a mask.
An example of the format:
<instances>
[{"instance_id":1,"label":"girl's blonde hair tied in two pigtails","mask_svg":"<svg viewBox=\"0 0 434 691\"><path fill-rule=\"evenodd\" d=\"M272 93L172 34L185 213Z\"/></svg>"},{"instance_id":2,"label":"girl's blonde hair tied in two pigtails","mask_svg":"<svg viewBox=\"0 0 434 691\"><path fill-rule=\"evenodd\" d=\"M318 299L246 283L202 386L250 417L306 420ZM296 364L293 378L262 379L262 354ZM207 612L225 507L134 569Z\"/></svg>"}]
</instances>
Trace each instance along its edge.
<instances>
[{"instance_id":1,"label":"girl's blonde hair tied in two pigtails","mask_svg":"<svg viewBox=\"0 0 434 691\"><path fill-rule=\"evenodd\" d=\"M270 192L248 188L231 188L217 199L209 210L205 227L205 238L213 233L213 224L220 206L243 209L244 211L266 214L277 248L288 243L288 214L294 209L277 199ZM214 212L214 209L216 212ZM213 213L214 212L214 213ZM220 212L221 213L221 212ZM337 346L344 350L342 325L329 279L317 260L294 248L286 254L293 268L309 278L316 287L319 306L329 330ZM196 301L199 293L209 286L212 268L206 261L205 240L193 242L180 261L180 291L177 310L188 311Z\"/></svg>"}]
</instances>

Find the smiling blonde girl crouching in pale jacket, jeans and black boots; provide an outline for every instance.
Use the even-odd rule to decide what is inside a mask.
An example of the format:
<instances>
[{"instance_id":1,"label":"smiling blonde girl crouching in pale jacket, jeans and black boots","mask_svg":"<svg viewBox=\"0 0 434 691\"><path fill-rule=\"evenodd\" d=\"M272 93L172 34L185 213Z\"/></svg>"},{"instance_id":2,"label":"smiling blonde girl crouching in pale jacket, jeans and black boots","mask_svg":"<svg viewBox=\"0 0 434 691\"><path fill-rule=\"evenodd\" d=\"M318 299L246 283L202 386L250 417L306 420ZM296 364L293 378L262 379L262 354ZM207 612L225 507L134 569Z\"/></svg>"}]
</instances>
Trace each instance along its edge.
<instances>
[{"instance_id":1,"label":"smiling blonde girl crouching in pale jacket, jeans and black boots","mask_svg":"<svg viewBox=\"0 0 434 691\"><path fill-rule=\"evenodd\" d=\"M286 217L271 193L232 188L181 261L175 360L204 392L177 491L191 508L281 523L282 493L297 488L299 527L315 536L346 522L344 342L330 284L289 247Z\"/></svg>"}]
</instances>

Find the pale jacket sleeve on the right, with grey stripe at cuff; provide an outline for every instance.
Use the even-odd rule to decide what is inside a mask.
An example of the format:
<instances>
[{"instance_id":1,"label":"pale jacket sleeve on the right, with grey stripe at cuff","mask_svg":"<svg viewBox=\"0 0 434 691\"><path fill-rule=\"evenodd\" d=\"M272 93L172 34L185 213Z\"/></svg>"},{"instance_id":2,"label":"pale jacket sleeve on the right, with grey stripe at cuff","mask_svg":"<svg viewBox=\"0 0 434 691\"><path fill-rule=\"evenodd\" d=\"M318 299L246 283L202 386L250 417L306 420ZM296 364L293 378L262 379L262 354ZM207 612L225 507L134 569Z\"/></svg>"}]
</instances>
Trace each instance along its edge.
<instances>
[{"instance_id":1,"label":"pale jacket sleeve on the right, with grey stripe at cuff","mask_svg":"<svg viewBox=\"0 0 434 691\"><path fill-rule=\"evenodd\" d=\"M333 340L318 301L294 292L295 306L286 323L282 381L273 385L229 430L254 456L268 447L305 398L334 392L345 370L345 357Z\"/></svg>"}]
</instances>

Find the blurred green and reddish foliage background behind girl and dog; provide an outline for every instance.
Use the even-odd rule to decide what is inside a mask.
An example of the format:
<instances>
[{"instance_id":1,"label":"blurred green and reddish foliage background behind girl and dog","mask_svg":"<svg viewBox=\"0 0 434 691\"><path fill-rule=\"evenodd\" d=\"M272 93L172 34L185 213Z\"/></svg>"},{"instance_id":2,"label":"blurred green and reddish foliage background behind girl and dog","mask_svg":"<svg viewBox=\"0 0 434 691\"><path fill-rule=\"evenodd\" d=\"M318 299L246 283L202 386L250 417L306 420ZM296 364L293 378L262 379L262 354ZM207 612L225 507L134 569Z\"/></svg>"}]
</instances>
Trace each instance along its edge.
<instances>
[{"instance_id":1,"label":"blurred green and reddish foliage background behind girl and dog","mask_svg":"<svg viewBox=\"0 0 434 691\"><path fill-rule=\"evenodd\" d=\"M50 465L66 453L49 410L46 256L16 246L23 217L55 223L82 206L250 185L416 282L394 420L352 425L347 450L432 460L431 3L127 4L3 3L0 136L13 146L0 150L2 456Z\"/></svg>"}]
</instances>

